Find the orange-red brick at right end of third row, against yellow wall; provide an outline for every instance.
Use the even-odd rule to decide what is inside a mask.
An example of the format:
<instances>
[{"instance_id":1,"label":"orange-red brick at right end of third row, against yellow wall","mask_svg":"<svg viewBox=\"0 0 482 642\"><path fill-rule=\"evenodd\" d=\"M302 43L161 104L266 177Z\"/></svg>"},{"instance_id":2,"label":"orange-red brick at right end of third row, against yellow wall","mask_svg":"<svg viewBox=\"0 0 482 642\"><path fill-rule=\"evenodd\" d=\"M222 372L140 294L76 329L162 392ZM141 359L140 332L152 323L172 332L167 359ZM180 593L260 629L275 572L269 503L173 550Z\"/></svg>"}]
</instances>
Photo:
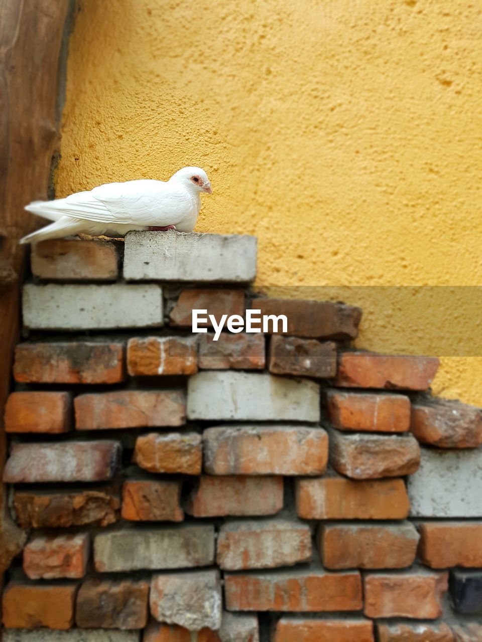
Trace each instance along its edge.
<instances>
[{"instance_id":1,"label":"orange-red brick at right end of third row, against yellow wall","mask_svg":"<svg viewBox=\"0 0 482 642\"><path fill-rule=\"evenodd\" d=\"M434 357L375 352L342 352L338 356L336 386L427 390L437 372Z\"/></svg>"}]
</instances>

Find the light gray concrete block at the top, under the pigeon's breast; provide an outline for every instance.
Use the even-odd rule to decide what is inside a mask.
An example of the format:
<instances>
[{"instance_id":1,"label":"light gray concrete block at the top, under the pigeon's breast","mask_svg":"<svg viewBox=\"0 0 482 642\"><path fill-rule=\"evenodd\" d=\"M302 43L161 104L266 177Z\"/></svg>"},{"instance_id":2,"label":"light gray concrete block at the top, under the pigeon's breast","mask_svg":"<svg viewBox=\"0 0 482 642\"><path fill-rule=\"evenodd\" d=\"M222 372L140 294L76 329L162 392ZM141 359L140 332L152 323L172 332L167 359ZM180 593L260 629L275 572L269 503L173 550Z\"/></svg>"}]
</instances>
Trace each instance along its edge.
<instances>
[{"instance_id":1,"label":"light gray concrete block at the top, under the pigeon's breast","mask_svg":"<svg viewBox=\"0 0 482 642\"><path fill-rule=\"evenodd\" d=\"M245 283L256 277L256 237L191 232L129 232L127 281Z\"/></svg>"}]
</instances>

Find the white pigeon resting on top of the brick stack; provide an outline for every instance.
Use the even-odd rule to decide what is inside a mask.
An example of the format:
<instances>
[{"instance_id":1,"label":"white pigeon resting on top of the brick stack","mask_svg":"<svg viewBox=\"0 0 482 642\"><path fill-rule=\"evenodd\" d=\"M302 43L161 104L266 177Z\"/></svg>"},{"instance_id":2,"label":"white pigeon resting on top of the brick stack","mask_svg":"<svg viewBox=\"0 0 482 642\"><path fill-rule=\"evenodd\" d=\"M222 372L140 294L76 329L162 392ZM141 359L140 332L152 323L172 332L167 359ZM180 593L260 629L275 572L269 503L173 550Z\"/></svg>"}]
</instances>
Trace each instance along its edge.
<instances>
[{"instance_id":1,"label":"white pigeon resting on top of the brick stack","mask_svg":"<svg viewBox=\"0 0 482 642\"><path fill-rule=\"evenodd\" d=\"M130 230L192 232L201 209L201 192L212 194L204 169L184 167L169 180L107 183L67 198L34 201L25 209L51 221L20 243L38 243L84 232L124 236Z\"/></svg>"}]
</instances>

